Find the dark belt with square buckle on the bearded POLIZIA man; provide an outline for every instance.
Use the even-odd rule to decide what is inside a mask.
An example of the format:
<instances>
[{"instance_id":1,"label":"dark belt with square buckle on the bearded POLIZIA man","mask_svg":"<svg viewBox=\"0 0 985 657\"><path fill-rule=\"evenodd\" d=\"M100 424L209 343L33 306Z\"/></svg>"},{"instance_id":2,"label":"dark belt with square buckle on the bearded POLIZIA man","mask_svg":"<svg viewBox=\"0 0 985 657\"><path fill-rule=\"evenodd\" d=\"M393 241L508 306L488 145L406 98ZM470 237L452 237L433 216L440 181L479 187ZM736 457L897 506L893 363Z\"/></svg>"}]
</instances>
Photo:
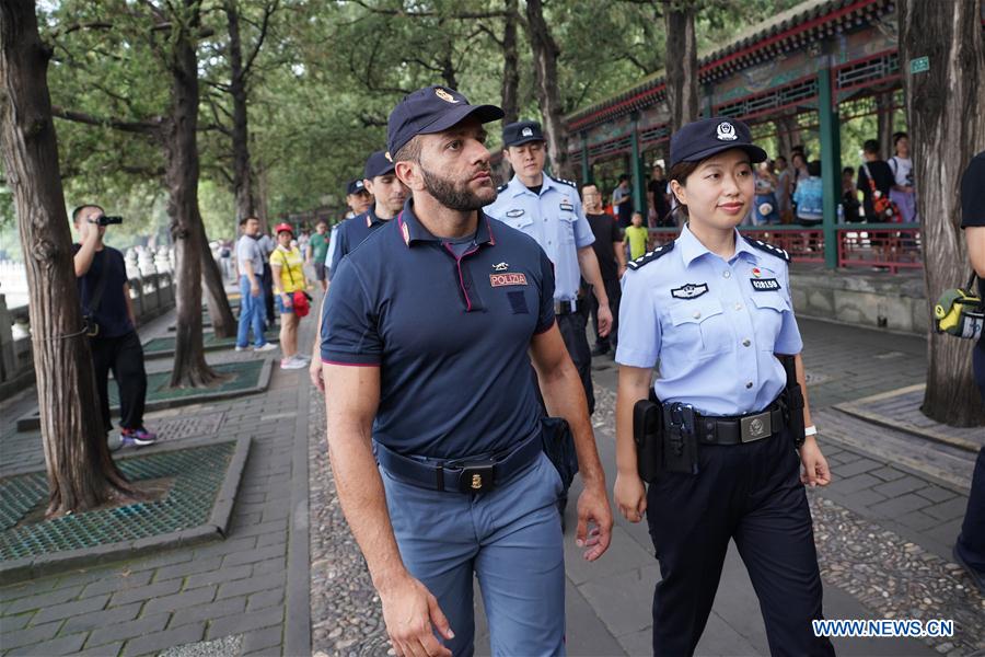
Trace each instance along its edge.
<instances>
[{"instance_id":1,"label":"dark belt with square buckle on the bearded POLIZIA man","mask_svg":"<svg viewBox=\"0 0 985 657\"><path fill-rule=\"evenodd\" d=\"M375 442L376 459L386 472L409 484L430 491L488 493L526 468L541 453L540 431L501 458L455 459L427 463L396 453Z\"/></svg>"}]
</instances>

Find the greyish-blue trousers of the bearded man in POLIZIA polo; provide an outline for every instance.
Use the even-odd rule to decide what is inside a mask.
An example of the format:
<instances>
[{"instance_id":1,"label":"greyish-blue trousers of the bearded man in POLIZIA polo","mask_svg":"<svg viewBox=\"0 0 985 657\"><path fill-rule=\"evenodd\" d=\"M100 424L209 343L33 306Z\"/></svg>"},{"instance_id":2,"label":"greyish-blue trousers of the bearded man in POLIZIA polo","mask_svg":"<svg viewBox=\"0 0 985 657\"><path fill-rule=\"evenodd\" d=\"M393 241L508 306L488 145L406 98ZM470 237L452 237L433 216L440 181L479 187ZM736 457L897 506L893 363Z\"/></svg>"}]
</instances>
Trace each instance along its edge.
<instances>
[{"instance_id":1,"label":"greyish-blue trousers of the bearded man in POLIZIA polo","mask_svg":"<svg viewBox=\"0 0 985 657\"><path fill-rule=\"evenodd\" d=\"M438 599L455 657L474 652L473 574L493 655L565 655L565 555L560 476L540 454L490 493L428 491L381 468L401 557Z\"/></svg>"}]
</instances>

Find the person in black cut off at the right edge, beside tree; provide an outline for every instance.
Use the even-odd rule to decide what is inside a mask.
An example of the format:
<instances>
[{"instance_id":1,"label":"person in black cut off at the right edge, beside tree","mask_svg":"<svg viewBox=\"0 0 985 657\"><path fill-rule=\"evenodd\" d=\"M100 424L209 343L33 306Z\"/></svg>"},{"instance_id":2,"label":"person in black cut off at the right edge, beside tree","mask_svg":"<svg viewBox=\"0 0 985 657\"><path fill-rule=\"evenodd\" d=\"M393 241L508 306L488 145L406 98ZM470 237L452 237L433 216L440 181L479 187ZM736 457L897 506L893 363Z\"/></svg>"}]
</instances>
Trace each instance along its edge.
<instances>
[{"instance_id":1,"label":"person in black cut off at the right edge, beside tree","mask_svg":"<svg viewBox=\"0 0 985 657\"><path fill-rule=\"evenodd\" d=\"M978 293L985 299L985 151L972 159L961 178L961 227L971 265L978 275ZM985 334L978 338L972 358L975 383L985 404ZM978 450L954 558L985 593L985 447Z\"/></svg>"}]
</instances>

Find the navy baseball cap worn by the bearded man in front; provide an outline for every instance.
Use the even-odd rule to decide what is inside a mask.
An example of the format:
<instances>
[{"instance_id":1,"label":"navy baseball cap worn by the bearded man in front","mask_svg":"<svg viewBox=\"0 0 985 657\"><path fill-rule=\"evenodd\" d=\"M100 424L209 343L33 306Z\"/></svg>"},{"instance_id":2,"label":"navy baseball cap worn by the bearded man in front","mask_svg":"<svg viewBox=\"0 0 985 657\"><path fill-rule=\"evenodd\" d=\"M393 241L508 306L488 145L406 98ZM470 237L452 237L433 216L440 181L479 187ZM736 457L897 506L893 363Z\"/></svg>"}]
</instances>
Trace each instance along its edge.
<instances>
[{"instance_id":1,"label":"navy baseball cap worn by the bearded man in front","mask_svg":"<svg viewBox=\"0 0 985 657\"><path fill-rule=\"evenodd\" d=\"M482 123L503 117L496 105L470 105L468 99L448 87L432 84L408 93L390 113L386 149L391 160L416 136L447 130L472 115Z\"/></svg>"}]
</instances>

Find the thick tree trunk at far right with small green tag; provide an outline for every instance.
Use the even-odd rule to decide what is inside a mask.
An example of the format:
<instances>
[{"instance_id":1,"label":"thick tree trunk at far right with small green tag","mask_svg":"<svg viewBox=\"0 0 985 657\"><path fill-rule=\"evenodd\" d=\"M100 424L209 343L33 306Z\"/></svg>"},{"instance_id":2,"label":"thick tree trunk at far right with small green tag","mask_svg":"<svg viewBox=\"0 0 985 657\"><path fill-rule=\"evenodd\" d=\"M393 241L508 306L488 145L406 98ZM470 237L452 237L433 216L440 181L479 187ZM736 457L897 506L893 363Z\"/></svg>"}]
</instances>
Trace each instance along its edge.
<instances>
[{"instance_id":1,"label":"thick tree trunk at far right with small green tag","mask_svg":"<svg viewBox=\"0 0 985 657\"><path fill-rule=\"evenodd\" d=\"M900 65L913 143L917 211L924 245L927 313L970 268L961 234L961 174L985 145L985 43L981 0L955 0L949 11L923 0L900 2ZM908 62L928 57L930 70ZM920 410L952 426L985 425L972 377L972 341L930 333L927 392Z\"/></svg>"}]
</instances>

